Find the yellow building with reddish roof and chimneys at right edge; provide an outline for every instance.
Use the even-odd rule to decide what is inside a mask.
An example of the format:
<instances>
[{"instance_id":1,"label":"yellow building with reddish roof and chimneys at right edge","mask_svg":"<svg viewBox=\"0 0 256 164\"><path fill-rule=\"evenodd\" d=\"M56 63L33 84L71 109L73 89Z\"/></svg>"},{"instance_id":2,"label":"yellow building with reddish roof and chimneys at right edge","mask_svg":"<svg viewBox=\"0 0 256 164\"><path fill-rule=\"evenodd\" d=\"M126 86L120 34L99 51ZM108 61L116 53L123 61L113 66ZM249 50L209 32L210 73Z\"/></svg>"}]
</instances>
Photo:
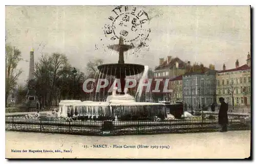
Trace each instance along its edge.
<instances>
[{"instance_id":1,"label":"yellow building with reddish roof and chimneys at right edge","mask_svg":"<svg viewBox=\"0 0 256 164\"><path fill-rule=\"evenodd\" d=\"M248 53L247 55L246 64L240 66L239 61L237 60L235 66L236 68L226 69L225 64L223 64L223 70L216 74L217 99L223 97L231 106L250 106L250 54Z\"/></svg>"}]
</instances>

